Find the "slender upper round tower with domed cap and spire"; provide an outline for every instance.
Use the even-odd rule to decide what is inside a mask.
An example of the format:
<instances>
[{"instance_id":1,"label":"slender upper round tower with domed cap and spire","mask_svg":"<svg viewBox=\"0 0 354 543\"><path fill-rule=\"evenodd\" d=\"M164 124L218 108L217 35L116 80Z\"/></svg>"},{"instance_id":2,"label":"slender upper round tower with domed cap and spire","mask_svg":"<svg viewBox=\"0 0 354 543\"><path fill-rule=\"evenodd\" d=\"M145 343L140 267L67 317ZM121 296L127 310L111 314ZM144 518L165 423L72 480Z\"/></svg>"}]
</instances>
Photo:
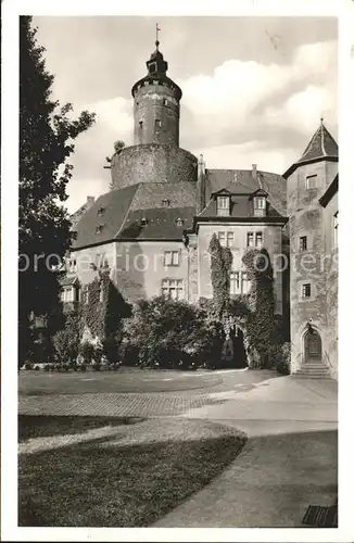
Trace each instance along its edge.
<instances>
[{"instance_id":1,"label":"slender upper round tower with domed cap and spire","mask_svg":"<svg viewBox=\"0 0 354 543\"><path fill-rule=\"evenodd\" d=\"M134 97L134 144L165 143L179 144L179 101L181 90L166 72L167 62L159 50L156 25L155 51L147 61L148 74L137 81Z\"/></svg>"}]
</instances>

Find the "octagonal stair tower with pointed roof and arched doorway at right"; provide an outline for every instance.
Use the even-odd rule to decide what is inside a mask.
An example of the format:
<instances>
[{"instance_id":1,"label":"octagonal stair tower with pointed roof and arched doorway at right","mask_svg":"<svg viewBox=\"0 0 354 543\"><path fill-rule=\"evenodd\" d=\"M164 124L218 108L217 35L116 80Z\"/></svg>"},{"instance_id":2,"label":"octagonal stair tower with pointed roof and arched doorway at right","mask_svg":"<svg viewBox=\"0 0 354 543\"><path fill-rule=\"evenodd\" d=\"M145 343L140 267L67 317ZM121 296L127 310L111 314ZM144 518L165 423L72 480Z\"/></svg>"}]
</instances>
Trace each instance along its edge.
<instances>
[{"instance_id":1,"label":"octagonal stair tower with pointed roof and arched doorway at right","mask_svg":"<svg viewBox=\"0 0 354 543\"><path fill-rule=\"evenodd\" d=\"M319 199L337 173L338 144L321 118L302 156L283 174L290 239L292 371L325 364L328 312Z\"/></svg>"}]
</instances>

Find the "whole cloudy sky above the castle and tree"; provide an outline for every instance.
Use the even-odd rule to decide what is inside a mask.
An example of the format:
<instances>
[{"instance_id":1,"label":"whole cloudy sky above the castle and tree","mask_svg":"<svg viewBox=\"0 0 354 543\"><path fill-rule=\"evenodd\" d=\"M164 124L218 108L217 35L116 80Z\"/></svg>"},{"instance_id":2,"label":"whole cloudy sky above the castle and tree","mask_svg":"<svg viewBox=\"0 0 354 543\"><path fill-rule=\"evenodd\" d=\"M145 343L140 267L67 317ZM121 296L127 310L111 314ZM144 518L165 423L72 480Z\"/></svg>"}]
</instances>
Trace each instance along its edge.
<instances>
[{"instance_id":1,"label":"whole cloudy sky above the castle and tree","mask_svg":"<svg viewBox=\"0 0 354 543\"><path fill-rule=\"evenodd\" d=\"M336 18L37 16L53 98L97 113L71 157L71 213L109 190L114 141L132 144L131 87L147 73L156 22L167 75L182 89L179 144L207 168L282 174L321 116L337 139Z\"/></svg>"}]
</instances>

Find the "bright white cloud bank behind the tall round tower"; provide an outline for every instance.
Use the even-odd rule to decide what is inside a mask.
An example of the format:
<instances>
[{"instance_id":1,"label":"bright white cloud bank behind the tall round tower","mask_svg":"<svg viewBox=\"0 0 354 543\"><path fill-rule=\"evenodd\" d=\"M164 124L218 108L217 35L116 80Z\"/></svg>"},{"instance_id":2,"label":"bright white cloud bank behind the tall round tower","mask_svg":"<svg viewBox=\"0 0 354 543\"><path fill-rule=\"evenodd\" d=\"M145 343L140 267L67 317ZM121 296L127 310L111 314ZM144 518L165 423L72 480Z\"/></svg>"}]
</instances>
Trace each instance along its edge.
<instances>
[{"instance_id":1,"label":"bright white cloud bank behind the tall round tower","mask_svg":"<svg viewBox=\"0 0 354 543\"><path fill-rule=\"evenodd\" d=\"M180 144L202 153L207 167L249 168L257 163L282 173L304 150L320 116L336 136L336 41L302 45L288 64L231 59L208 75L197 73L176 83L184 92ZM77 139L72 211L88 193L109 190L103 164L114 141L132 143L130 99L116 97L83 109L94 111L97 123Z\"/></svg>"}]
</instances>

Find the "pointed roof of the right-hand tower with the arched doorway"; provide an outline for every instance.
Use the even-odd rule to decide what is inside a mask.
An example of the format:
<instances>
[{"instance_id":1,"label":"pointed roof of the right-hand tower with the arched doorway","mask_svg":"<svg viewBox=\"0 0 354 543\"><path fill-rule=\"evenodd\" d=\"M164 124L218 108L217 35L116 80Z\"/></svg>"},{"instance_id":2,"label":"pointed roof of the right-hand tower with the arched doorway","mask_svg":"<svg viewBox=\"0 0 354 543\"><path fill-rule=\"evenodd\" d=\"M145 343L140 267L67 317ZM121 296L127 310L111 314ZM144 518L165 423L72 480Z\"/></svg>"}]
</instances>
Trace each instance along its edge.
<instances>
[{"instance_id":1,"label":"pointed roof of the right-hand tower with the arched doorway","mask_svg":"<svg viewBox=\"0 0 354 543\"><path fill-rule=\"evenodd\" d=\"M298 166L326 159L338 161L338 143L321 121L299 161L287 169L283 177L288 178Z\"/></svg>"}]
</instances>

